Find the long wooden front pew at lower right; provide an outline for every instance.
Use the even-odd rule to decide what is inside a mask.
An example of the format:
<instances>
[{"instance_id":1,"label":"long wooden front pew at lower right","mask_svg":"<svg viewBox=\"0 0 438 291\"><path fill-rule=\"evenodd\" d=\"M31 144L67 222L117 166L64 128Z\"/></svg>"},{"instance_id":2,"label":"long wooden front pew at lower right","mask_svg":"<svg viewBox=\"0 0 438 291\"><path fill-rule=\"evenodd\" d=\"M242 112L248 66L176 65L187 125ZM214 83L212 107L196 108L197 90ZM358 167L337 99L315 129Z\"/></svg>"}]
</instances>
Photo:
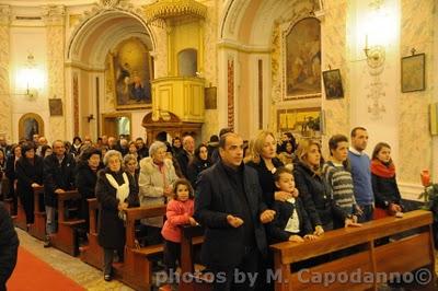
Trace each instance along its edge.
<instances>
[{"instance_id":1,"label":"long wooden front pew at lower right","mask_svg":"<svg viewBox=\"0 0 438 291\"><path fill-rule=\"evenodd\" d=\"M331 231L312 242L272 245L275 275L279 276L275 281L275 290L378 290L378 284L383 283L379 281L383 276L410 272L420 267L426 268L433 277L429 289L425 290L433 290L430 287L435 282L435 254L431 223L431 212L416 210L404 213L403 218L389 217L365 223L361 228ZM374 246L378 238L412 230L415 230L415 234ZM301 271L290 268L292 263L356 245L362 246L357 253ZM358 271L360 273L353 277ZM326 280L318 281L318 278L338 273L344 273L351 280L345 280L346 276L343 276L328 286ZM364 280L365 275L371 276L372 280ZM354 278L356 279L353 280Z\"/></svg>"}]
</instances>

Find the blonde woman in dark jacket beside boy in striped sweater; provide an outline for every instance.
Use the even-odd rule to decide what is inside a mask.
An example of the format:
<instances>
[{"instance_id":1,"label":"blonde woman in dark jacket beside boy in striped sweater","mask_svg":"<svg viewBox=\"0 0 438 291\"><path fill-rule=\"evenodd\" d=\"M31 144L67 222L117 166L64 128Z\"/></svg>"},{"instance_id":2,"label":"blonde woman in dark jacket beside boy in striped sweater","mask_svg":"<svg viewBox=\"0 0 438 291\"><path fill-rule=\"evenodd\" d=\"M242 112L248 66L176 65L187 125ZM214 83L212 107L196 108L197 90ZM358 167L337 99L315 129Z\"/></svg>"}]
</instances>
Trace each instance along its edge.
<instances>
[{"instance_id":1,"label":"blonde woman in dark jacket beside boy in striped sweater","mask_svg":"<svg viewBox=\"0 0 438 291\"><path fill-rule=\"evenodd\" d=\"M321 146L314 140L301 140L296 155L296 185L312 221L314 234L321 235L324 231L333 230L332 199L321 175Z\"/></svg>"}]
</instances>

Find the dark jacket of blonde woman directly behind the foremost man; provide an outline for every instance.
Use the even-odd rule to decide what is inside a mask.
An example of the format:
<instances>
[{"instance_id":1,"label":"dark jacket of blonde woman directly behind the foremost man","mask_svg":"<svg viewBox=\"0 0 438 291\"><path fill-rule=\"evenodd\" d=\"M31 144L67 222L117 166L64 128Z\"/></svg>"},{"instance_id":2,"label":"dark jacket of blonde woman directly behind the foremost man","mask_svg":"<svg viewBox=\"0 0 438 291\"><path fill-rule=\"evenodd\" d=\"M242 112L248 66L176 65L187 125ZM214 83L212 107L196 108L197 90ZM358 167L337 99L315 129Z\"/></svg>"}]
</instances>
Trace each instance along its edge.
<instances>
[{"instance_id":1,"label":"dark jacket of blonde woman directly behind the foremost man","mask_svg":"<svg viewBox=\"0 0 438 291\"><path fill-rule=\"evenodd\" d=\"M273 159L273 163L275 167L283 166L281 161L276 158ZM252 166L255 168L255 171L257 171L258 183L263 190L263 198L265 199L265 203L267 205L267 207L270 208L275 200L274 194L276 190L274 174L269 170L267 170L265 161L263 159L261 159L258 163L254 163L253 161L251 161L246 165Z\"/></svg>"}]
</instances>

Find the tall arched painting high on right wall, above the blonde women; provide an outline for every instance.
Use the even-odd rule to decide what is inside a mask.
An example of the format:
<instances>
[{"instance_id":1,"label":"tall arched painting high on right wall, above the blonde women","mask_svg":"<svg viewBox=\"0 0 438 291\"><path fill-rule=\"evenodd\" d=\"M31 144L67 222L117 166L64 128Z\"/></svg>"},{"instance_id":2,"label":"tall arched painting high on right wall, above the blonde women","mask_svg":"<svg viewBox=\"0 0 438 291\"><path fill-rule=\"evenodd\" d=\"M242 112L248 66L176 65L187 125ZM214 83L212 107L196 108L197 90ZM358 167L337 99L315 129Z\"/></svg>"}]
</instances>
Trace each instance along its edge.
<instances>
[{"instance_id":1,"label":"tall arched painting high on right wall, above the blonde women","mask_svg":"<svg viewBox=\"0 0 438 291\"><path fill-rule=\"evenodd\" d=\"M321 24L306 18L285 32L285 100L321 96Z\"/></svg>"}]
</instances>

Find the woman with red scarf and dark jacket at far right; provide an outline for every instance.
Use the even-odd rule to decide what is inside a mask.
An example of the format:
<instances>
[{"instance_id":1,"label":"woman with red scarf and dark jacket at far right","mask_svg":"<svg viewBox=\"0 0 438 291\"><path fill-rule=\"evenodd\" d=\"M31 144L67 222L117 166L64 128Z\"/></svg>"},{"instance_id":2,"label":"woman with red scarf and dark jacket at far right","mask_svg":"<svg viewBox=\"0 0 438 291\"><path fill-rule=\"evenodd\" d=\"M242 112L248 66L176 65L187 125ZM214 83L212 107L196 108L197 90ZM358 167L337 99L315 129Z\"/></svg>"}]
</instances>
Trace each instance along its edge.
<instances>
[{"instance_id":1,"label":"woman with red scarf and dark jacket at far right","mask_svg":"<svg viewBox=\"0 0 438 291\"><path fill-rule=\"evenodd\" d=\"M372 152L371 182L376 200L374 219L395 216L403 211L395 181L395 166L391 159L391 147L385 142L379 142Z\"/></svg>"}]
</instances>

